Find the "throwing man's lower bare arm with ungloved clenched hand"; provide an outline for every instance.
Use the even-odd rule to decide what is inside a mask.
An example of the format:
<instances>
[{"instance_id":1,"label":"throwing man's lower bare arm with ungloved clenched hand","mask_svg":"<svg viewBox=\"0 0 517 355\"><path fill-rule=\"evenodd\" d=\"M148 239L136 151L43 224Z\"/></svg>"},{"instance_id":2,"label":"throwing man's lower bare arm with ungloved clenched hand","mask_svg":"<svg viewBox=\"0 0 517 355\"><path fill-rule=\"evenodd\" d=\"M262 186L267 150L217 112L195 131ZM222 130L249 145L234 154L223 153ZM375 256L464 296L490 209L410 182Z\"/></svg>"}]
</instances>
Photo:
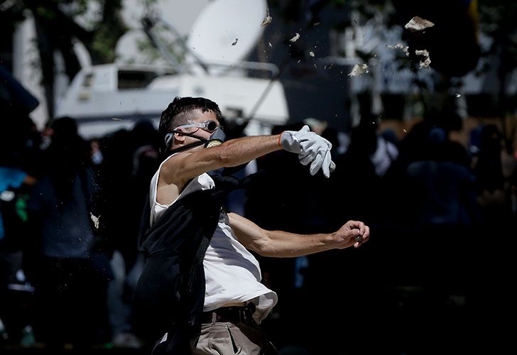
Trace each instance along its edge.
<instances>
[{"instance_id":1,"label":"throwing man's lower bare arm with ungloved clenched hand","mask_svg":"<svg viewBox=\"0 0 517 355\"><path fill-rule=\"evenodd\" d=\"M230 225L241 244L261 256L288 258L350 246L358 248L370 237L369 227L359 221L348 221L330 234L294 234L268 231L239 214L228 215Z\"/></svg>"}]
</instances>

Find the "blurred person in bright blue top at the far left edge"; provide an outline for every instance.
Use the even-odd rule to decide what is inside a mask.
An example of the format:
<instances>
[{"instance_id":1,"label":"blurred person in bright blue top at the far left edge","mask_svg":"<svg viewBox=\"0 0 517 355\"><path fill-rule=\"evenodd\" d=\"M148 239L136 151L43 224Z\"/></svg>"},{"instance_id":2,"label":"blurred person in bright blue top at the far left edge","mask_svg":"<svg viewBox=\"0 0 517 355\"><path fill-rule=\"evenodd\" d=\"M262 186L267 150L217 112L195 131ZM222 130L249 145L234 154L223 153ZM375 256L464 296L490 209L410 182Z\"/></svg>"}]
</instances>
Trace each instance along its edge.
<instances>
[{"instance_id":1,"label":"blurred person in bright blue top at the far left edge","mask_svg":"<svg viewBox=\"0 0 517 355\"><path fill-rule=\"evenodd\" d=\"M26 202L36 183L33 149L38 131L30 117L4 109L0 120L0 320L2 339L11 346L32 346L33 287L23 271ZM2 332L2 330L0 330ZM0 339L0 341L2 340Z\"/></svg>"}]
</instances>

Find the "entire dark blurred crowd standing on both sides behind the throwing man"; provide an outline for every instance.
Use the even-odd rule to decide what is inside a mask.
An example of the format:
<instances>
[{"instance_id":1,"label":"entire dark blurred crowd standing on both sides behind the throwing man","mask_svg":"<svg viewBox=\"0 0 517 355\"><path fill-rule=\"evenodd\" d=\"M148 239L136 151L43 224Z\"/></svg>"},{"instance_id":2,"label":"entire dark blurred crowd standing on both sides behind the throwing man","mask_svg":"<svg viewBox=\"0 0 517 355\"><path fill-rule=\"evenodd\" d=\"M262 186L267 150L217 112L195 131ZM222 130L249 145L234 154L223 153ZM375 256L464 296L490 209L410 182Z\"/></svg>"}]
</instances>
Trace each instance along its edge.
<instances>
[{"instance_id":1,"label":"entire dark blurred crowd standing on both sides behind the throwing man","mask_svg":"<svg viewBox=\"0 0 517 355\"><path fill-rule=\"evenodd\" d=\"M281 300L263 323L274 344L335 354L335 342L321 339L359 328L378 338L367 349L410 352L432 341L432 322L444 342L457 341L505 314L517 235L515 147L507 149L499 121L478 123L463 142L452 139L465 131L462 119L440 111L403 136L376 116L348 134L315 119L273 127L309 124L332 143L336 170L312 176L295 155L271 153L236 173L254 176L229 195L228 209L265 229L303 234L348 219L371 226L371 242L358 250L257 256ZM161 162L155 127L138 121L85 140L70 117L43 131L28 116L0 124L0 346L145 348L131 326L131 296L143 262L141 209ZM229 138L243 134L223 126ZM367 339L355 333L357 344L347 346L364 349Z\"/></svg>"}]
</instances>

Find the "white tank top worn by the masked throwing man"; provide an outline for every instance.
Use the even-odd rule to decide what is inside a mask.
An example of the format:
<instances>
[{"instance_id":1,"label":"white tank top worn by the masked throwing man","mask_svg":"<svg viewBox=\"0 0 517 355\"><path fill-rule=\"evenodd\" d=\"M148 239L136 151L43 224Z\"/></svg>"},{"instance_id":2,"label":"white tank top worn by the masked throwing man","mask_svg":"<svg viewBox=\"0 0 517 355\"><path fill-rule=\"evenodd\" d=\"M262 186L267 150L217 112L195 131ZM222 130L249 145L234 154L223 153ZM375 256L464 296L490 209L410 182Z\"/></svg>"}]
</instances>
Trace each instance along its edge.
<instances>
[{"instance_id":1,"label":"white tank top worn by the masked throwing man","mask_svg":"<svg viewBox=\"0 0 517 355\"><path fill-rule=\"evenodd\" d=\"M163 163L160 164L160 168L151 180L149 196L151 226L168 207L180 198L194 191L209 190L215 186L214 180L207 173L203 173L192 179L172 203L160 204L156 201L156 190ZM252 302L256 305L254 319L260 324L276 305L278 300L276 293L261 283L262 275L258 261L236 239L229 226L227 214L219 214L219 222L205 253L203 267L206 282L204 312L214 310L229 302Z\"/></svg>"}]
</instances>

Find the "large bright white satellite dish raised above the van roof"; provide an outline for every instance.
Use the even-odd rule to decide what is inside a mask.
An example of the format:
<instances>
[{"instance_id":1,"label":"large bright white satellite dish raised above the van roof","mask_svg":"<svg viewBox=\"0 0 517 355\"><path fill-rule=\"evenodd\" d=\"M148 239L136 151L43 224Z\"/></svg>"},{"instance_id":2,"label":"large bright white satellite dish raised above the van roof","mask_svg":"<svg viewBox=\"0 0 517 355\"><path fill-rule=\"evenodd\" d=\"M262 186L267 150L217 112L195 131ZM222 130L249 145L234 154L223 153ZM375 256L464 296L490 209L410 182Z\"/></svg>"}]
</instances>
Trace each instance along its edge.
<instances>
[{"instance_id":1,"label":"large bright white satellite dish raised above the van roof","mask_svg":"<svg viewBox=\"0 0 517 355\"><path fill-rule=\"evenodd\" d=\"M212 1L196 18L187 47L202 62L227 65L241 62L263 31L261 23L266 17L266 9L266 0ZM194 56L187 55L186 60L188 64L196 65Z\"/></svg>"}]
</instances>

